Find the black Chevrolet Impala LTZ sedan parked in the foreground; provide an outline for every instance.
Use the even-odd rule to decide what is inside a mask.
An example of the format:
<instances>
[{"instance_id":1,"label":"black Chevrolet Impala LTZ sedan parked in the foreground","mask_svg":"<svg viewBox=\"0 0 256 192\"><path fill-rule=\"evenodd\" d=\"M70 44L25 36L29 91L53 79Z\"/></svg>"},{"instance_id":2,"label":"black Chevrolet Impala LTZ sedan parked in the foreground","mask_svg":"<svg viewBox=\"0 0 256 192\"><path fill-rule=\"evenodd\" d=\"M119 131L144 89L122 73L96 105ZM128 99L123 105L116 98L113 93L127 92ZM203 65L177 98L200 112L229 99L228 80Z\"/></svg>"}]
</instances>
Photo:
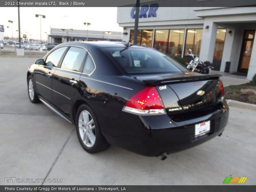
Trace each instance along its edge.
<instances>
[{"instance_id":1,"label":"black Chevrolet Impala LTZ sedan parked in the foreground","mask_svg":"<svg viewBox=\"0 0 256 192\"><path fill-rule=\"evenodd\" d=\"M28 95L76 126L89 153L110 144L163 156L221 135L228 123L220 75L189 71L155 49L68 42L28 68Z\"/></svg>"}]
</instances>

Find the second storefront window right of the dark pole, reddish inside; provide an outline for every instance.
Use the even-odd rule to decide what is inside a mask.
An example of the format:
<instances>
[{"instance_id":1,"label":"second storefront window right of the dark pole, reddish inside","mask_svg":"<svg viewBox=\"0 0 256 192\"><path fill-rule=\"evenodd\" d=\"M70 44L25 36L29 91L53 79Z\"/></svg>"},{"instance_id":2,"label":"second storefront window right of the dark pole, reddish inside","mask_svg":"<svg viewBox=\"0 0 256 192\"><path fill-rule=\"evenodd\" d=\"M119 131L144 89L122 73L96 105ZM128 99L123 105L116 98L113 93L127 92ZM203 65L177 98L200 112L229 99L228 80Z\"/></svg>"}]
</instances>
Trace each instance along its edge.
<instances>
[{"instance_id":1,"label":"second storefront window right of the dark pole, reddish inside","mask_svg":"<svg viewBox=\"0 0 256 192\"><path fill-rule=\"evenodd\" d=\"M169 29L155 30L154 48L166 53L168 46Z\"/></svg>"}]
</instances>

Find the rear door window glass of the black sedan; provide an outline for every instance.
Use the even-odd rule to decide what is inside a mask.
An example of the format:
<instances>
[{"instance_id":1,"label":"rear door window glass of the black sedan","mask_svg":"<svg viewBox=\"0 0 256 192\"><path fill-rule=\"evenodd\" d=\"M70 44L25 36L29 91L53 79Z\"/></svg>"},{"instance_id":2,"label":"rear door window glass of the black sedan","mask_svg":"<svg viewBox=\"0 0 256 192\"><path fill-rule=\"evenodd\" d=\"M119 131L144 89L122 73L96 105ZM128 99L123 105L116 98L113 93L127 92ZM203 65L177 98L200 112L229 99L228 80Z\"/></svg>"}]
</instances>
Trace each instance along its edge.
<instances>
[{"instance_id":1,"label":"rear door window glass of the black sedan","mask_svg":"<svg viewBox=\"0 0 256 192\"><path fill-rule=\"evenodd\" d=\"M79 71L86 52L86 50L79 47L70 47L62 61L60 68L70 71Z\"/></svg>"}]
</instances>

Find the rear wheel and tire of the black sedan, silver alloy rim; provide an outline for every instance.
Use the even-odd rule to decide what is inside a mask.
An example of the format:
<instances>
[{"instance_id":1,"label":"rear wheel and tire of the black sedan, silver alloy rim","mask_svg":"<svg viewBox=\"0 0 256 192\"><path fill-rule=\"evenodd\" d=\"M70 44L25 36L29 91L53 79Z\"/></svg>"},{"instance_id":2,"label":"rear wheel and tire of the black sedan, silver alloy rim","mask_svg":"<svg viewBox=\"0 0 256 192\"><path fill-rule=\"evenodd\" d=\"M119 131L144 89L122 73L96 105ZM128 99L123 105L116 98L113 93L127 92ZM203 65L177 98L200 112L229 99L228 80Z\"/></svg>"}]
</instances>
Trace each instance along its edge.
<instances>
[{"instance_id":1,"label":"rear wheel and tire of the black sedan, silver alloy rim","mask_svg":"<svg viewBox=\"0 0 256 192\"><path fill-rule=\"evenodd\" d=\"M82 104L76 113L76 133L81 146L88 153L98 153L110 144L102 135L100 124L92 108Z\"/></svg>"}]
</instances>

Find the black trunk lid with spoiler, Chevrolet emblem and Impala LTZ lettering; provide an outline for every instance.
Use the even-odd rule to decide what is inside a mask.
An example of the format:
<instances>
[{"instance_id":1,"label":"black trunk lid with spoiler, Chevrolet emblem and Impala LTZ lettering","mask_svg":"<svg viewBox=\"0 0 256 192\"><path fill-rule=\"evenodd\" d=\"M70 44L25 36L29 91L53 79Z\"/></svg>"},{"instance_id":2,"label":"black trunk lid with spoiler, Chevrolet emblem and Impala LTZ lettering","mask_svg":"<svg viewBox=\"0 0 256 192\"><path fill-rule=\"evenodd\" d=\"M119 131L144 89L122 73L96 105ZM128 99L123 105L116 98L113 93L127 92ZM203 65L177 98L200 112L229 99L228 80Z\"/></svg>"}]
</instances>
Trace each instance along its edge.
<instances>
[{"instance_id":1,"label":"black trunk lid with spoiler, Chevrolet emblem and Impala LTZ lettering","mask_svg":"<svg viewBox=\"0 0 256 192\"><path fill-rule=\"evenodd\" d=\"M215 110L221 100L220 76L186 72L173 75L136 76L136 78L146 85L156 86L166 113L170 117L182 119L184 116L189 118L188 114L191 113L195 117Z\"/></svg>"}]
</instances>

